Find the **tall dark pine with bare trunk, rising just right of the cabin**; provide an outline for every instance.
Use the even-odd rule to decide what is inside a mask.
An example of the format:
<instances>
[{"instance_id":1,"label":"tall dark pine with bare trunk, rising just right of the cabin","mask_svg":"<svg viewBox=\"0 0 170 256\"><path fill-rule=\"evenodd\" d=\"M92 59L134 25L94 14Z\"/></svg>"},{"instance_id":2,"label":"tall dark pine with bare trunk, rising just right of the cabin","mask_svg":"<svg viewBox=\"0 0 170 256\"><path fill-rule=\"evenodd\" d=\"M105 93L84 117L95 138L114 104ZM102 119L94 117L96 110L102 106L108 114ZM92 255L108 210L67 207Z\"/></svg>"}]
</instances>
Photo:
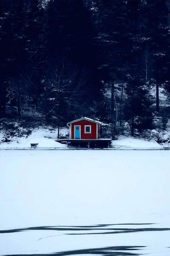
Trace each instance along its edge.
<instances>
[{"instance_id":1,"label":"tall dark pine with bare trunk, rising just right of the cabin","mask_svg":"<svg viewBox=\"0 0 170 256\"><path fill-rule=\"evenodd\" d=\"M124 74L124 66L129 52L129 21L127 18L126 1L97 2L98 10L98 69L100 79L111 84L111 119L114 119L115 110L115 86L114 81L121 81Z\"/></svg>"}]
</instances>

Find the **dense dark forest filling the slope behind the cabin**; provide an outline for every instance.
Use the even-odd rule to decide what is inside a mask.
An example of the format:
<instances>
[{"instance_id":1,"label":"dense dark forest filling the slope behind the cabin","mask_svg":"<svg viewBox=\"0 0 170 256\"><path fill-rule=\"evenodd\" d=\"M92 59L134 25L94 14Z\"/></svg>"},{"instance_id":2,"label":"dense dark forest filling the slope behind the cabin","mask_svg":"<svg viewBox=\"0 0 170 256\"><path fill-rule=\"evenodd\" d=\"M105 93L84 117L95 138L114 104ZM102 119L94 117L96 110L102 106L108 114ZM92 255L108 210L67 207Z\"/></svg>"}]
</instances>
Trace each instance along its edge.
<instances>
[{"instance_id":1,"label":"dense dark forest filling the slope behind the cabin","mask_svg":"<svg viewBox=\"0 0 170 256\"><path fill-rule=\"evenodd\" d=\"M166 0L1 0L0 117L152 127L170 93ZM153 97L153 90L156 97Z\"/></svg>"}]
</instances>

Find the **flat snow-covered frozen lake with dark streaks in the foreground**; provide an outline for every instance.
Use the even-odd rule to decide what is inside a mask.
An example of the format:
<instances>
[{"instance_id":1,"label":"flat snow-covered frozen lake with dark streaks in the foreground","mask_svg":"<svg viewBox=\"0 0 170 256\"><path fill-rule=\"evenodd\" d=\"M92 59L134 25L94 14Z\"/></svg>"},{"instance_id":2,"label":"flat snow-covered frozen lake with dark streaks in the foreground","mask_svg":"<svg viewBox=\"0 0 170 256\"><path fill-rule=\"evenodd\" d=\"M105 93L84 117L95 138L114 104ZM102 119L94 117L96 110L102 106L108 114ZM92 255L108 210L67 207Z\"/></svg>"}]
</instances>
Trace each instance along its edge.
<instances>
[{"instance_id":1,"label":"flat snow-covered frozen lake with dark streaks in the foreground","mask_svg":"<svg viewBox=\"0 0 170 256\"><path fill-rule=\"evenodd\" d=\"M0 150L0 255L16 254L170 255L170 151Z\"/></svg>"}]
</instances>

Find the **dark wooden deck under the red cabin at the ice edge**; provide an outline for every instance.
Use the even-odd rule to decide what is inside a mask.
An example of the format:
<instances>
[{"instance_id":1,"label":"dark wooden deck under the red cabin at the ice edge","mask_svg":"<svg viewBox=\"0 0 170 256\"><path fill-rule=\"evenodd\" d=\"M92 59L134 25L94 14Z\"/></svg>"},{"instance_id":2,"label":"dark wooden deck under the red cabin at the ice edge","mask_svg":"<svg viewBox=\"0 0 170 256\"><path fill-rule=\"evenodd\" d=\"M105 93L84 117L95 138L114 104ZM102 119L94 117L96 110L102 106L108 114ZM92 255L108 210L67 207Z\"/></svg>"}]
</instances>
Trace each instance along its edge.
<instances>
[{"instance_id":1,"label":"dark wooden deck under the red cabin at the ice edge","mask_svg":"<svg viewBox=\"0 0 170 256\"><path fill-rule=\"evenodd\" d=\"M79 140L79 139L61 139L55 140L62 144L67 144L68 147L81 147L81 148L109 148L111 139L99 140Z\"/></svg>"}]
</instances>

